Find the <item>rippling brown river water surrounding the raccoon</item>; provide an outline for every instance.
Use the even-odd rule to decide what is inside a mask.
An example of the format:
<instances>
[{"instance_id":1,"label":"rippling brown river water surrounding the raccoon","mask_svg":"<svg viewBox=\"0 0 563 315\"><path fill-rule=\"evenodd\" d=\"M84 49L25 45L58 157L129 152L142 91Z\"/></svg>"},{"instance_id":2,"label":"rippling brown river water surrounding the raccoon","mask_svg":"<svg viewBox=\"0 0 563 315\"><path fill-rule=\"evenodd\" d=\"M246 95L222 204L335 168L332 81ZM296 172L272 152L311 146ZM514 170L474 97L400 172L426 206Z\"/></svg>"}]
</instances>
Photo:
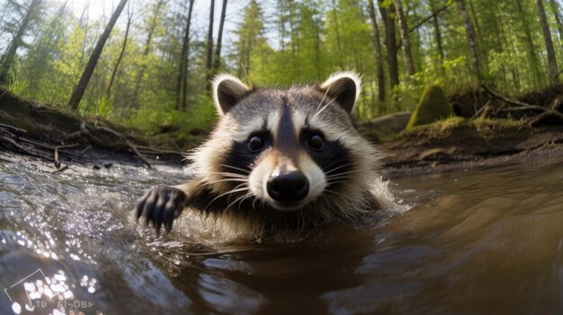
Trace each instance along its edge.
<instances>
[{"instance_id":1,"label":"rippling brown river water surrounding the raccoon","mask_svg":"<svg viewBox=\"0 0 563 315\"><path fill-rule=\"evenodd\" d=\"M563 312L562 162L391 181L407 212L276 240L136 224L187 176L0 163L0 313Z\"/></svg>"}]
</instances>

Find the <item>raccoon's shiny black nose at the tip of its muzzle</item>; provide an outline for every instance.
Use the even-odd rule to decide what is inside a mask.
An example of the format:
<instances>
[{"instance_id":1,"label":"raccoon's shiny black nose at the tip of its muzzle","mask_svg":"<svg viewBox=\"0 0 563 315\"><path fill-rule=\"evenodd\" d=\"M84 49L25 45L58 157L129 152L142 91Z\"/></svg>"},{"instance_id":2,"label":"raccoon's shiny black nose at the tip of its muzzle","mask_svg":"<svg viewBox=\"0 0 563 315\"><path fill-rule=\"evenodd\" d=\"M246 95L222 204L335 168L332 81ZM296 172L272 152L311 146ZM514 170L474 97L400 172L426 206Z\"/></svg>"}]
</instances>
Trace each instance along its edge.
<instances>
[{"instance_id":1,"label":"raccoon's shiny black nose at the tip of its muzzle","mask_svg":"<svg viewBox=\"0 0 563 315\"><path fill-rule=\"evenodd\" d=\"M298 202L308 195L308 179L300 171L274 172L266 188L277 202Z\"/></svg>"}]
</instances>

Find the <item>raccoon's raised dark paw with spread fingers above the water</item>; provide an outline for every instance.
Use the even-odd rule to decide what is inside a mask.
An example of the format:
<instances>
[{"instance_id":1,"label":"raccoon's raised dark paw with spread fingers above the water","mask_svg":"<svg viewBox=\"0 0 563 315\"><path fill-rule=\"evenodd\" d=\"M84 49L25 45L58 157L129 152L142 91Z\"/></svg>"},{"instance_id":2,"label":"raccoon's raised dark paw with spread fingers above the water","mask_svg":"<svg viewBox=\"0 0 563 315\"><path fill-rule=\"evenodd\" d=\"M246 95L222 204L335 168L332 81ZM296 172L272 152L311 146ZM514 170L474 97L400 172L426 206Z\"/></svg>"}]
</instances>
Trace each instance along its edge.
<instances>
[{"instance_id":1,"label":"raccoon's raised dark paw with spread fingers above the water","mask_svg":"<svg viewBox=\"0 0 563 315\"><path fill-rule=\"evenodd\" d=\"M162 224L165 225L166 232L170 232L174 219L182 213L186 201L186 194L178 188L155 186L139 199L137 219L142 215L145 223L152 222L156 233L160 232Z\"/></svg>"}]
</instances>

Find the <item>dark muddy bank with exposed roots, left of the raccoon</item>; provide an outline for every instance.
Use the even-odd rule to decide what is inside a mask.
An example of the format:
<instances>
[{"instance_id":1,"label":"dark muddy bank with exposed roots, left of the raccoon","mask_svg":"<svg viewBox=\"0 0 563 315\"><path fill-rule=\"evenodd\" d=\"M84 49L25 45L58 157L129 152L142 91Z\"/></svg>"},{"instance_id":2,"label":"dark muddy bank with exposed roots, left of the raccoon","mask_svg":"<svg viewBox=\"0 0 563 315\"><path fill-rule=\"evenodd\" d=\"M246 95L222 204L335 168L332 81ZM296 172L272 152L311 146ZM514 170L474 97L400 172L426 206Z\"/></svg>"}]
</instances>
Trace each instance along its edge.
<instances>
[{"instance_id":1,"label":"dark muddy bank with exposed roots, left of the raccoon","mask_svg":"<svg viewBox=\"0 0 563 315\"><path fill-rule=\"evenodd\" d=\"M192 146L202 136L192 136ZM183 137L185 138L185 136ZM0 87L0 151L4 160L22 154L51 163L53 171L81 164L94 169L113 164L143 166L183 164L183 147L169 134L141 130L64 108L27 100ZM188 143L187 145L190 145Z\"/></svg>"}]
</instances>

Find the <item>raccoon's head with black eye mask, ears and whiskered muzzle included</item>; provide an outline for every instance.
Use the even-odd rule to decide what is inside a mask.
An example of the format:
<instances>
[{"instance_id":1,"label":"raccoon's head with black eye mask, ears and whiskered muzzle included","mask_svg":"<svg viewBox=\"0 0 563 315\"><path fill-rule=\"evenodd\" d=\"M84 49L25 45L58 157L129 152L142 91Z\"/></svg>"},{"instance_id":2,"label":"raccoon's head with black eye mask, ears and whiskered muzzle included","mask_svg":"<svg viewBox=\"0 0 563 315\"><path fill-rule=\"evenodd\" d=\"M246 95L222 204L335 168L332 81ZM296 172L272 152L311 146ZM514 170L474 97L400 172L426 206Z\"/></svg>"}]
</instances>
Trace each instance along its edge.
<instances>
[{"instance_id":1,"label":"raccoon's head with black eye mask, ears and whiskered muzzle included","mask_svg":"<svg viewBox=\"0 0 563 315\"><path fill-rule=\"evenodd\" d=\"M361 89L352 72L288 90L251 88L219 74L213 81L219 124L194 154L196 168L216 193L235 194L229 200L238 207L290 212L361 202L377 162L353 126Z\"/></svg>"}]
</instances>

